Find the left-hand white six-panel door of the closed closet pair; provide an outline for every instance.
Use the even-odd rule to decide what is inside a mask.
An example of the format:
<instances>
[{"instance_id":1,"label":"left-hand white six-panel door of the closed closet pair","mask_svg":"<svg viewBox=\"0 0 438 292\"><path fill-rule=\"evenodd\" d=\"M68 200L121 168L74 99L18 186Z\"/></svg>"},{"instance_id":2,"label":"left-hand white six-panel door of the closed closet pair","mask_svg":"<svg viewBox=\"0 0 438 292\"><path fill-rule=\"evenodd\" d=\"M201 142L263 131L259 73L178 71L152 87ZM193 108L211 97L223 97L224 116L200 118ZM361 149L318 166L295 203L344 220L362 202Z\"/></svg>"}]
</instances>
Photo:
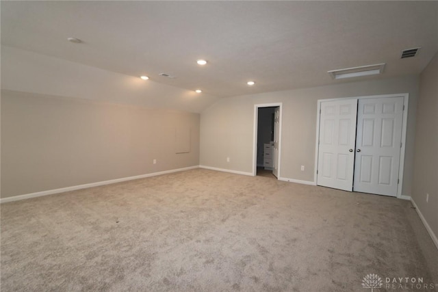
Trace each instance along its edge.
<instances>
[{"instance_id":1,"label":"left-hand white six-panel door of the closed closet pair","mask_svg":"<svg viewBox=\"0 0 438 292\"><path fill-rule=\"evenodd\" d=\"M357 100L326 101L320 109L317 185L352 191Z\"/></svg>"}]
</instances>

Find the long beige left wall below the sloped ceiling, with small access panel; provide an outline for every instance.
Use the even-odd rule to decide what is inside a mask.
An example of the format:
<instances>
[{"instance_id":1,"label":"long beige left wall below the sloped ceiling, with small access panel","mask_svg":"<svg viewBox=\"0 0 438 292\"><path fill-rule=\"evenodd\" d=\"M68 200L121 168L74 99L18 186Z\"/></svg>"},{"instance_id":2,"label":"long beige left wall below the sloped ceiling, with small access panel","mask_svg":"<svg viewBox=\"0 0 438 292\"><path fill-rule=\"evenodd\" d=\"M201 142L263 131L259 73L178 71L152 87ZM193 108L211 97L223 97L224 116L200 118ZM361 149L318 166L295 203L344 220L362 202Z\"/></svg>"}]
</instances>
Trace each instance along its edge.
<instances>
[{"instance_id":1,"label":"long beige left wall below the sloped ceiling, with small access panel","mask_svg":"<svg viewBox=\"0 0 438 292\"><path fill-rule=\"evenodd\" d=\"M190 146L177 154L181 127ZM186 168L198 159L199 114L1 91L1 198Z\"/></svg>"}]
</instances>

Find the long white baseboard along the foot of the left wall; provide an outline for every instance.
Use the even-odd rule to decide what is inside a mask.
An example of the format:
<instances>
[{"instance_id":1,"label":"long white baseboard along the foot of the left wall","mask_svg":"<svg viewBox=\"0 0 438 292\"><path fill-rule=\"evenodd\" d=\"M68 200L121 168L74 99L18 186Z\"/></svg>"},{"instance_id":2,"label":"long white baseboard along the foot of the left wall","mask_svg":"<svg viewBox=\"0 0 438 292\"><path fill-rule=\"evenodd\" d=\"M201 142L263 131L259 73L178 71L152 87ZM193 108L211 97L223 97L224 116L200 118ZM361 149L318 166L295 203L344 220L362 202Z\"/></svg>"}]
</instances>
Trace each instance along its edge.
<instances>
[{"instance_id":1,"label":"long white baseboard along the foot of the left wall","mask_svg":"<svg viewBox=\"0 0 438 292\"><path fill-rule=\"evenodd\" d=\"M86 183L85 185L73 185L71 187L62 187L60 189L49 189L47 191L38 191L36 193L13 196L13 197L8 197L8 198L0 198L0 204L6 203L6 202L14 202L14 201L18 201L18 200L25 200L25 199L29 199L29 198L36 198L36 197L41 197L41 196L48 196L48 195L53 195L53 194L60 194L60 193L64 193L65 191L75 191L77 189L86 189L88 187L99 187L99 185L110 185L112 183L121 183L123 181L132 181L134 179L139 179L139 178L158 176L158 175L162 175L162 174L170 174L172 172L182 172L183 170L192 170L194 168L199 168L199 165L190 166L188 168L178 168L176 170L164 170L162 172L153 172L151 174L141 174L138 176L116 178L116 179L112 179L110 181L99 181L97 183Z\"/></svg>"}]
</instances>

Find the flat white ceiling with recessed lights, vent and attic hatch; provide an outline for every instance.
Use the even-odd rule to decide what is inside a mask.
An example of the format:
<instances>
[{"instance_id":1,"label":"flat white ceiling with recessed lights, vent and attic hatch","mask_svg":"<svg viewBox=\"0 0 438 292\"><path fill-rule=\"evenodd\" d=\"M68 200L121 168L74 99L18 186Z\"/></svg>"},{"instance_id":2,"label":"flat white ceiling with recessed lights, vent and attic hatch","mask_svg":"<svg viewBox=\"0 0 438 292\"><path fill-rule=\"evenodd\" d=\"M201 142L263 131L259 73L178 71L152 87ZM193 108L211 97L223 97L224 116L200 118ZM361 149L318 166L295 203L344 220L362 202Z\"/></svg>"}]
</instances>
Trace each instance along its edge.
<instances>
[{"instance_id":1,"label":"flat white ceiling with recessed lights, vent and attic hatch","mask_svg":"<svg viewBox=\"0 0 438 292\"><path fill-rule=\"evenodd\" d=\"M346 82L327 71L383 62L378 78L420 73L438 51L438 2L1 1L1 43L237 96Z\"/></svg>"}]
</instances>

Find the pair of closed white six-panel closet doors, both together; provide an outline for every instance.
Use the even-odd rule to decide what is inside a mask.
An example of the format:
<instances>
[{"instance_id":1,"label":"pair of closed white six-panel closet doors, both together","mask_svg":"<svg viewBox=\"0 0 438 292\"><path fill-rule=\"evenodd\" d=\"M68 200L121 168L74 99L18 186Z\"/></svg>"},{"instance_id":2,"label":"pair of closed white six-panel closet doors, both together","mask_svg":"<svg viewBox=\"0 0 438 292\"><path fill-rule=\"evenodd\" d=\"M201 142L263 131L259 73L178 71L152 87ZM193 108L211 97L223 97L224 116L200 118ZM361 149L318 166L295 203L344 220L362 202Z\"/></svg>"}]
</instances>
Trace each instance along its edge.
<instances>
[{"instance_id":1,"label":"pair of closed white six-panel closet doors, both together","mask_svg":"<svg viewBox=\"0 0 438 292\"><path fill-rule=\"evenodd\" d=\"M403 96L321 103L317 185L397 196Z\"/></svg>"}]
</instances>

